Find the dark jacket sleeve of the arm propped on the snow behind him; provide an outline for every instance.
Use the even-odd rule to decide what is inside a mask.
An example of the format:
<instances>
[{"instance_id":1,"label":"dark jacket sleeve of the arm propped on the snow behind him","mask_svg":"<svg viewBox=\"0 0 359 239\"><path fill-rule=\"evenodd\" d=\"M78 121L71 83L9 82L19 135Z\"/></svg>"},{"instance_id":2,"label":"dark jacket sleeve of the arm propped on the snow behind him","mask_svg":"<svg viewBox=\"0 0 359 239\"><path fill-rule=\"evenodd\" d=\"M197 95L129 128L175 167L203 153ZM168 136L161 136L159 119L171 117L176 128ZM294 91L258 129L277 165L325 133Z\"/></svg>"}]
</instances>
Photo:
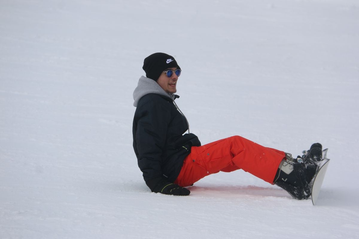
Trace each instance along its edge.
<instances>
[{"instance_id":1,"label":"dark jacket sleeve of the arm propped on the snow behind him","mask_svg":"<svg viewBox=\"0 0 359 239\"><path fill-rule=\"evenodd\" d=\"M140 106L137 115L137 163L143 172L146 185L151 190L164 180L161 156L171 120L170 111L165 107L167 103L149 101Z\"/></svg>"}]
</instances>

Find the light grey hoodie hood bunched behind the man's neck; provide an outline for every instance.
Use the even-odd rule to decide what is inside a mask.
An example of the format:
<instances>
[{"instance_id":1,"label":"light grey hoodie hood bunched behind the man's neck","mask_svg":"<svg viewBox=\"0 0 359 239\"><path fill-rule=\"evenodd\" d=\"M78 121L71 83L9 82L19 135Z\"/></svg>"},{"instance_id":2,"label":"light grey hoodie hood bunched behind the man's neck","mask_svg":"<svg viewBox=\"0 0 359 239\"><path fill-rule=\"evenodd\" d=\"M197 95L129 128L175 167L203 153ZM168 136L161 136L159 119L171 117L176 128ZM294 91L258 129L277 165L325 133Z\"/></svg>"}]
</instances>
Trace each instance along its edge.
<instances>
[{"instance_id":1,"label":"light grey hoodie hood bunched behind the man's neck","mask_svg":"<svg viewBox=\"0 0 359 239\"><path fill-rule=\"evenodd\" d=\"M158 85L157 82L154 80L147 78L145 76L141 76L138 80L137 87L134 90L133 97L134 97L134 106L137 107L138 101L147 94L158 94L170 97L172 100L176 99L174 94L169 94L165 92L162 87ZM178 96L179 97L179 96Z\"/></svg>"}]
</instances>

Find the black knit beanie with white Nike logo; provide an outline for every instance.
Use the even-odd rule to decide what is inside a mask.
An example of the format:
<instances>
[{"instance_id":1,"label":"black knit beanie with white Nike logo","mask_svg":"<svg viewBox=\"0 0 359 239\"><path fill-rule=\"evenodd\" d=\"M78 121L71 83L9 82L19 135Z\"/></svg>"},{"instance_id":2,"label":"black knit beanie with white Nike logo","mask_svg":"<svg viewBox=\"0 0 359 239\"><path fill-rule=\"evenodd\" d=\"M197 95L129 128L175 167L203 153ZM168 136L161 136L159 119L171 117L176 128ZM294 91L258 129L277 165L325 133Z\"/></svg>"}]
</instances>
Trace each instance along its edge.
<instances>
[{"instance_id":1,"label":"black knit beanie with white Nike logo","mask_svg":"<svg viewBox=\"0 0 359 239\"><path fill-rule=\"evenodd\" d=\"M172 67L181 69L173 56L157 52L144 59L142 69L146 72L147 78L157 81L164 70Z\"/></svg>"}]
</instances>

